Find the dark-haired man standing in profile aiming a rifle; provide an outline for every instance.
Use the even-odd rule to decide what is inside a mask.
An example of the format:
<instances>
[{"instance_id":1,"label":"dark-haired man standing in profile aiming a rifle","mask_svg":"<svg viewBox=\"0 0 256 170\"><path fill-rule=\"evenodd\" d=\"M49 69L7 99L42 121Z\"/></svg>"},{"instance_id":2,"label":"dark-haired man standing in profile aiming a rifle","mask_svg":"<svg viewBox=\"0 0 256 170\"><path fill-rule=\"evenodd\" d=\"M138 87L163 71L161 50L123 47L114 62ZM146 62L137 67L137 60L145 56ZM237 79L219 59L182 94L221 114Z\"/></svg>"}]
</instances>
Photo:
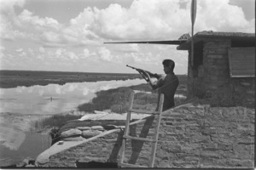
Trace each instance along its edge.
<instances>
[{"instance_id":1,"label":"dark-haired man standing in profile aiming a rifle","mask_svg":"<svg viewBox=\"0 0 256 170\"><path fill-rule=\"evenodd\" d=\"M157 75L157 74L148 74L148 72L145 71L145 75L148 78L148 82L151 85L151 87L155 90L158 90L158 105L156 108L156 111L159 107L159 101L160 101L160 94L164 94L164 104L163 104L163 111L166 111L170 108L172 108L174 104L174 94L177 90L178 86L178 79L177 76L174 74L173 70L175 67L175 63L172 59L165 59L163 60L163 66L164 71L166 75ZM156 82L153 82L150 77L155 77L158 80Z\"/></svg>"}]
</instances>

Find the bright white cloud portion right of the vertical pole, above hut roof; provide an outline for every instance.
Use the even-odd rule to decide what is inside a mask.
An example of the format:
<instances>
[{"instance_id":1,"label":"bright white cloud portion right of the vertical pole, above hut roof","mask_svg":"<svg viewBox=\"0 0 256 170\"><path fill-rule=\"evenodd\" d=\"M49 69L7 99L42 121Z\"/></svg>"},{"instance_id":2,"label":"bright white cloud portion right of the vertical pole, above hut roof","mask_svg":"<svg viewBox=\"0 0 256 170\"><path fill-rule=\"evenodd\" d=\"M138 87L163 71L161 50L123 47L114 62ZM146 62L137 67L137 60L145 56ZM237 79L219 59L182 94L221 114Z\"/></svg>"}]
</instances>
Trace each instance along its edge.
<instances>
[{"instance_id":1,"label":"bright white cloud portion right of the vertical pole, above hut roof","mask_svg":"<svg viewBox=\"0 0 256 170\"><path fill-rule=\"evenodd\" d=\"M198 1L197 30L253 32L253 20L246 20L242 8L229 0Z\"/></svg>"}]
</instances>

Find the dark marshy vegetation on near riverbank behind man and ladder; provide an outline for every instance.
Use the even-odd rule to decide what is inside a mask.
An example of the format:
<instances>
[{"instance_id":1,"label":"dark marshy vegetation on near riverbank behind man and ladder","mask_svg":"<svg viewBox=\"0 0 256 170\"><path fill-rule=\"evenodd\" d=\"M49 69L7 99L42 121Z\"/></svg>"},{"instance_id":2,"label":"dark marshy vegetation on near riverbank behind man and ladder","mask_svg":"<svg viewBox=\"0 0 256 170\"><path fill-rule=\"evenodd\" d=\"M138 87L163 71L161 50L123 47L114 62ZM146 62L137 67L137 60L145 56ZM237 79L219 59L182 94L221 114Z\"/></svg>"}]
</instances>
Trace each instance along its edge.
<instances>
[{"instance_id":1,"label":"dark marshy vegetation on near riverbank behind man and ladder","mask_svg":"<svg viewBox=\"0 0 256 170\"><path fill-rule=\"evenodd\" d=\"M178 76L179 86L177 88L177 94L183 94L186 96L186 76ZM157 105L158 94L151 90L148 84L143 83L137 86L113 88L109 90L102 90L96 93L96 98L92 99L90 103L85 103L78 106L79 111L93 112L111 110L116 113L126 112L131 105L131 94L133 90L141 91L134 95L133 108L154 110ZM146 94L143 92L151 92L152 94ZM176 105L183 103L185 99L175 99ZM41 122L37 122L38 127L62 127L66 122L79 119L81 116L73 115L55 115Z\"/></svg>"}]
</instances>

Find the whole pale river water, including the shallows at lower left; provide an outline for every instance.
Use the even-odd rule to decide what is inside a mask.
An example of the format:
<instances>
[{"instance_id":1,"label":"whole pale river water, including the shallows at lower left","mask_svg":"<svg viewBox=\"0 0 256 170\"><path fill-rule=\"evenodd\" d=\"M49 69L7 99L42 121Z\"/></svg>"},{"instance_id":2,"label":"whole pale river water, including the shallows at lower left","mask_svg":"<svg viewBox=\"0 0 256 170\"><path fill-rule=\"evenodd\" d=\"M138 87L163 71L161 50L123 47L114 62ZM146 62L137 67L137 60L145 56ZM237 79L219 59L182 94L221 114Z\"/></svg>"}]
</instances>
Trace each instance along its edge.
<instances>
[{"instance_id":1,"label":"whole pale river water, including the shallows at lower left","mask_svg":"<svg viewBox=\"0 0 256 170\"><path fill-rule=\"evenodd\" d=\"M26 120L32 116L53 115L76 109L96 97L96 92L110 88L129 87L144 83L141 79L126 81L74 82L18 88L0 88L0 112L15 113L0 120L0 166L18 163L26 157L36 158L49 147L49 136L29 132ZM20 116L22 115L22 116ZM32 115L27 116L27 115ZM22 117L26 117L26 119ZM10 122L10 123L9 123ZM28 122L27 122L28 123Z\"/></svg>"}]
</instances>

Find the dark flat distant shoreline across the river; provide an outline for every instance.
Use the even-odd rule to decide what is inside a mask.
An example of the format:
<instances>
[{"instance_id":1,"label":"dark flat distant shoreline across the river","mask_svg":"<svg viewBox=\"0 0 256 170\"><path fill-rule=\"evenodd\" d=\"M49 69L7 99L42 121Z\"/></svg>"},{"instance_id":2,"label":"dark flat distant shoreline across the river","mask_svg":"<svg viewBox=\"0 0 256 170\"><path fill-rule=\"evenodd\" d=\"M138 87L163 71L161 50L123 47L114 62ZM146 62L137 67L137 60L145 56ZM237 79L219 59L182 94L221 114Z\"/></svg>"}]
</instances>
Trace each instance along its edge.
<instances>
[{"instance_id":1,"label":"dark flat distant shoreline across the river","mask_svg":"<svg viewBox=\"0 0 256 170\"><path fill-rule=\"evenodd\" d=\"M64 85L68 82L98 82L111 80L142 79L139 74L86 73L64 71L0 71L0 88Z\"/></svg>"}]
</instances>

